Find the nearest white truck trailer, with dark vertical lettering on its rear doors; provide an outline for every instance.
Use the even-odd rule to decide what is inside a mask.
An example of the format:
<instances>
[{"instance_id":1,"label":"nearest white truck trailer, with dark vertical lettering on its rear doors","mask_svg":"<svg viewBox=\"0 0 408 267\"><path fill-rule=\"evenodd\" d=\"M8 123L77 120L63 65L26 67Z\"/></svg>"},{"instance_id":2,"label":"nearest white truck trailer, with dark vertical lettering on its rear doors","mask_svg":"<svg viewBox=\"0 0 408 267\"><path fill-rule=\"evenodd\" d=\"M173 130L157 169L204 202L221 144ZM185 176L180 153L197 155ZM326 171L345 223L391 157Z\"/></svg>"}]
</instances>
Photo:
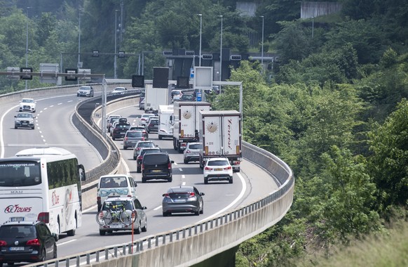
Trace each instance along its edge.
<instances>
[{"instance_id":1,"label":"nearest white truck trailer, with dark vertical lettering on its rear doors","mask_svg":"<svg viewBox=\"0 0 408 267\"><path fill-rule=\"evenodd\" d=\"M214 110L200 112L199 138L200 168L210 157L226 157L233 171L240 171L242 159L241 114L236 110Z\"/></svg>"}]
</instances>

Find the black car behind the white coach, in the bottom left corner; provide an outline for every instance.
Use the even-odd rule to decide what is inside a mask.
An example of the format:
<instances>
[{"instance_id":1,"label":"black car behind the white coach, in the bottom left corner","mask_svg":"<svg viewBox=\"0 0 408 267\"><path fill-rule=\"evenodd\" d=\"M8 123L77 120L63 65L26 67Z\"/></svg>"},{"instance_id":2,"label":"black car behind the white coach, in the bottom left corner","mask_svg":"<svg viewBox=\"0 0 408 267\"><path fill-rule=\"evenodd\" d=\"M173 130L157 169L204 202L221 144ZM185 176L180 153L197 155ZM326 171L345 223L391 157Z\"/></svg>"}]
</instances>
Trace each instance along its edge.
<instances>
[{"instance_id":1,"label":"black car behind the white coach, in the bottom left corner","mask_svg":"<svg viewBox=\"0 0 408 267\"><path fill-rule=\"evenodd\" d=\"M57 258L58 236L41 221L13 221L0 226L0 263Z\"/></svg>"}]
</instances>

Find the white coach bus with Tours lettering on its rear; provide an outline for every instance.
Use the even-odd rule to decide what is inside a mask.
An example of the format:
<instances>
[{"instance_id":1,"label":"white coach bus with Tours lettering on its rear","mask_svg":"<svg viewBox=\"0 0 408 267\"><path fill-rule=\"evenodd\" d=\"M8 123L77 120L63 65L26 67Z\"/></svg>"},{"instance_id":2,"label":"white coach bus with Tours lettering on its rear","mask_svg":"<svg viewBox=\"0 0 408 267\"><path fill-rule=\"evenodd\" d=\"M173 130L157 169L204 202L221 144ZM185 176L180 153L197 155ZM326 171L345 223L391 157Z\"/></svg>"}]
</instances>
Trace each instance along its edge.
<instances>
[{"instance_id":1,"label":"white coach bus with Tours lettering on its rear","mask_svg":"<svg viewBox=\"0 0 408 267\"><path fill-rule=\"evenodd\" d=\"M81 226L85 169L62 148L30 148L0 159L0 224L43 221L51 232Z\"/></svg>"}]
</instances>

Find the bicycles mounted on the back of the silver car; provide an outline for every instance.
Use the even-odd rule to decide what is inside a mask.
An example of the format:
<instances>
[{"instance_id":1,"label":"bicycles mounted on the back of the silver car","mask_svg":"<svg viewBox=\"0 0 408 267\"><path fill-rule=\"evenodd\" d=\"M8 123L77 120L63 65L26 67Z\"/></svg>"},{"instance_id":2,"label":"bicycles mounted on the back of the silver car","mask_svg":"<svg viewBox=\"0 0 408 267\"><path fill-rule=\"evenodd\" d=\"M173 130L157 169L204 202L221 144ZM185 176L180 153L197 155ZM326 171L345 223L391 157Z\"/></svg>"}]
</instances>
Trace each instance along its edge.
<instances>
[{"instance_id":1,"label":"bicycles mounted on the back of the silver car","mask_svg":"<svg viewBox=\"0 0 408 267\"><path fill-rule=\"evenodd\" d=\"M125 226L130 226L135 222L136 216L132 216L133 211L125 209L128 200L121 204L104 203L104 208L96 214L96 221L100 226L109 226L113 222L121 222Z\"/></svg>"}]
</instances>

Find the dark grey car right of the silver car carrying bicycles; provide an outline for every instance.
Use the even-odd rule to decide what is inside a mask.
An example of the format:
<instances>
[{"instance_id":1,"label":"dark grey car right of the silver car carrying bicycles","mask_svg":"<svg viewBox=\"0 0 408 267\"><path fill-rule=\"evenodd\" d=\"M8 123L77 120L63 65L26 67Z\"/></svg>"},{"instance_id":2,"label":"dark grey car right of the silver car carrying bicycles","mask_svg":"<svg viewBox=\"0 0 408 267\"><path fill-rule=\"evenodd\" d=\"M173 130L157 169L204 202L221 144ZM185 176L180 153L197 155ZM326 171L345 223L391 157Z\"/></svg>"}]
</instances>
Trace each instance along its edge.
<instances>
[{"instance_id":1,"label":"dark grey car right of the silver car carrying bicycles","mask_svg":"<svg viewBox=\"0 0 408 267\"><path fill-rule=\"evenodd\" d=\"M169 188L163 194L161 207L163 216L172 213L193 212L196 215L204 213L204 193L200 193L194 186L181 185Z\"/></svg>"}]
</instances>

